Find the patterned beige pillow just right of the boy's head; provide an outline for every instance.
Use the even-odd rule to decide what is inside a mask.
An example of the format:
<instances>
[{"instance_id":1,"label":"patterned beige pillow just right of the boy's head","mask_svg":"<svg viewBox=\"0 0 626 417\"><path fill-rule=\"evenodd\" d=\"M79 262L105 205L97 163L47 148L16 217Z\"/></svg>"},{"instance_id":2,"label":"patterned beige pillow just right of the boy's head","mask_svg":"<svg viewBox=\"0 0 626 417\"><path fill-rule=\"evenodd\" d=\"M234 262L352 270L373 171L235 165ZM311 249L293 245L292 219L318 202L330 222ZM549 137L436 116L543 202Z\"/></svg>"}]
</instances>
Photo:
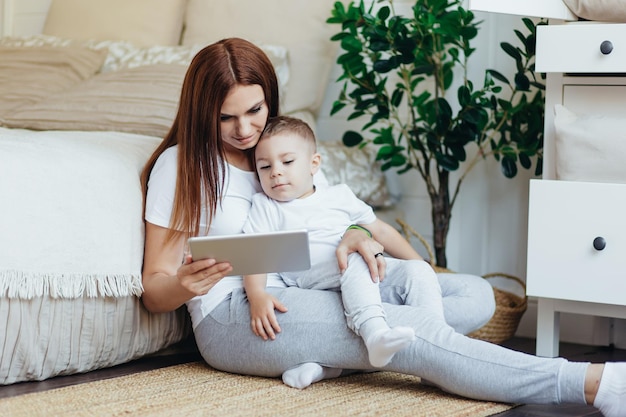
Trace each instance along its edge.
<instances>
[{"instance_id":1,"label":"patterned beige pillow just right of the boy's head","mask_svg":"<svg viewBox=\"0 0 626 417\"><path fill-rule=\"evenodd\" d=\"M322 172L329 185L347 184L354 194L373 208L394 204L387 179L376 161L376 149L347 147L340 141L319 141Z\"/></svg>"}]
</instances>

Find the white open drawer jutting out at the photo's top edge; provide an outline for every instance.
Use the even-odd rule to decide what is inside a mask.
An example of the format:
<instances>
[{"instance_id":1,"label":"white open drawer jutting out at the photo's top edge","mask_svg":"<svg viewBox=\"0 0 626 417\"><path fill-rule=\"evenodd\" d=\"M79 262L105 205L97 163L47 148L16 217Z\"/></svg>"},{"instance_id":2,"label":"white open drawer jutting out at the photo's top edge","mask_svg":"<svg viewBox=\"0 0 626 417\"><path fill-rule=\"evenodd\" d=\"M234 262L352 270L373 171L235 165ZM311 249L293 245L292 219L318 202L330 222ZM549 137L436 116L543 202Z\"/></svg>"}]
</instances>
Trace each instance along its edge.
<instances>
[{"instance_id":1,"label":"white open drawer jutting out at the photo's top edge","mask_svg":"<svg viewBox=\"0 0 626 417\"><path fill-rule=\"evenodd\" d=\"M562 0L470 0L469 9L519 16L578 20Z\"/></svg>"}]
</instances>

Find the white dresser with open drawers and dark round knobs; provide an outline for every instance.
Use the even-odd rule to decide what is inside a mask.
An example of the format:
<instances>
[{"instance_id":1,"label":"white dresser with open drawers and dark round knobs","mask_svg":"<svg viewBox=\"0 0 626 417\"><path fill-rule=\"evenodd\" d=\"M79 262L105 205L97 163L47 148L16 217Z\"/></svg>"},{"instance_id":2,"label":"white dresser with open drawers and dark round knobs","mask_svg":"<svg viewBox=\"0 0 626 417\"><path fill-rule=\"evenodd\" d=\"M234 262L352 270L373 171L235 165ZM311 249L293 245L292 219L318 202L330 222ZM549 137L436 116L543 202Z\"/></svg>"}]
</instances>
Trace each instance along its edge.
<instances>
[{"instance_id":1,"label":"white dresser with open drawers and dark round knobs","mask_svg":"<svg viewBox=\"0 0 626 417\"><path fill-rule=\"evenodd\" d=\"M538 303L537 355L557 356L560 313L626 318L626 185L587 181L584 154L569 161L583 170L576 181L563 180L554 114L560 104L623 117L626 129L626 24L575 21L560 0L472 0L470 8L550 18L537 33L536 70L548 73L544 172L530 184L526 285Z\"/></svg>"}]
</instances>

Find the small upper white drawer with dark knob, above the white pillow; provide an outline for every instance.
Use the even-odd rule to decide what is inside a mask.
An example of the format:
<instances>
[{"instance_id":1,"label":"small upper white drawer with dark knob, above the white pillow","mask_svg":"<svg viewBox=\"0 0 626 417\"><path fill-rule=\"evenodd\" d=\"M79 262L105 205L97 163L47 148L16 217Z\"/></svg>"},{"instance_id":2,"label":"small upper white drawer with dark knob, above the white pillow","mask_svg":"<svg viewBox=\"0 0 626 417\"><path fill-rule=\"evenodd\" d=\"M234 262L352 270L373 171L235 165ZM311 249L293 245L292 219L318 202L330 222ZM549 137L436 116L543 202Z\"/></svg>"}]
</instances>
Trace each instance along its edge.
<instances>
[{"instance_id":1,"label":"small upper white drawer with dark knob, above the white pillow","mask_svg":"<svg viewBox=\"0 0 626 417\"><path fill-rule=\"evenodd\" d=\"M626 24L571 22L537 27L538 72L626 73Z\"/></svg>"}]
</instances>

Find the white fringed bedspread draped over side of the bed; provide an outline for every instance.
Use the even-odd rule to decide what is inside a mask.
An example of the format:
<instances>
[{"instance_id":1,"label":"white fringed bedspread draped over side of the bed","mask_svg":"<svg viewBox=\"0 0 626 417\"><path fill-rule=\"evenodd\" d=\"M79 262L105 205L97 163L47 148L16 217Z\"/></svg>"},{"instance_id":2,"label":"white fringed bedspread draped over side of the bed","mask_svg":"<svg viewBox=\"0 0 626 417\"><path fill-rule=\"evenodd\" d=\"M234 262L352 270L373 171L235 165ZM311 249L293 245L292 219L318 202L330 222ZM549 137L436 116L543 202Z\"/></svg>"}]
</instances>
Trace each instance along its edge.
<instances>
[{"instance_id":1,"label":"white fringed bedspread draped over side of the bed","mask_svg":"<svg viewBox=\"0 0 626 417\"><path fill-rule=\"evenodd\" d=\"M140 295L139 173L160 141L0 128L0 297Z\"/></svg>"}]
</instances>

